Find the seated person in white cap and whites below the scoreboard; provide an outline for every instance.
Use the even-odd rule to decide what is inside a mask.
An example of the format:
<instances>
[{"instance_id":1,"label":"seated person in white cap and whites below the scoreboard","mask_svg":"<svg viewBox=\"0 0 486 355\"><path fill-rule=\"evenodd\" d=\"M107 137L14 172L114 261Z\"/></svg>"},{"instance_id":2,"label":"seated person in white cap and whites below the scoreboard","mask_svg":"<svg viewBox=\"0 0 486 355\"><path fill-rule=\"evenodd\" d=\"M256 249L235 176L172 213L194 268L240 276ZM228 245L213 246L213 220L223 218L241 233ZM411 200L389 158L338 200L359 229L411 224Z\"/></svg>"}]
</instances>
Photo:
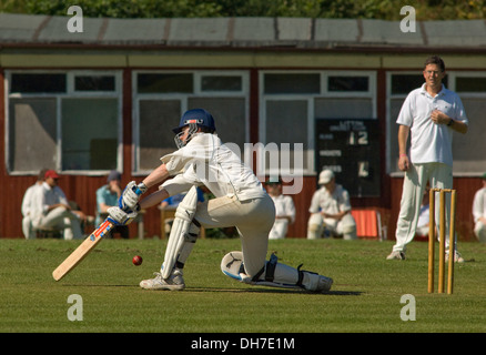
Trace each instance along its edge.
<instances>
[{"instance_id":1,"label":"seated person in white cap and whites below the scoreboard","mask_svg":"<svg viewBox=\"0 0 486 355\"><path fill-rule=\"evenodd\" d=\"M321 189L314 192L308 209L311 217L307 223L307 239L320 239L326 231L332 236L355 240L356 221L351 214L350 193L336 184L336 178L331 170L321 172L318 184Z\"/></svg>"}]
</instances>

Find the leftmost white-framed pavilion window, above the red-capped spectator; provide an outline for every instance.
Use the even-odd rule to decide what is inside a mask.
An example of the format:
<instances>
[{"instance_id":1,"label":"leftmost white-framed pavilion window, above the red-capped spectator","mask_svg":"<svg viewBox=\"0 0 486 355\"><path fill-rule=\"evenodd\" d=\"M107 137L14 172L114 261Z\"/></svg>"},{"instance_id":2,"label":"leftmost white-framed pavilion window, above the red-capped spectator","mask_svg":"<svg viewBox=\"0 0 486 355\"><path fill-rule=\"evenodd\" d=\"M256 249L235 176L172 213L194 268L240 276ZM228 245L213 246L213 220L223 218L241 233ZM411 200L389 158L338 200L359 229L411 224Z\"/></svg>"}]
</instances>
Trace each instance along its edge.
<instances>
[{"instance_id":1,"label":"leftmost white-framed pavilion window, above the red-capped spectator","mask_svg":"<svg viewBox=\"0 0 486 355\"><path fill-rule=\"evenodd\" d=\"M8 169L85 172L121 169L118 72L7 72Z\"/></svg>"}]
</instances>

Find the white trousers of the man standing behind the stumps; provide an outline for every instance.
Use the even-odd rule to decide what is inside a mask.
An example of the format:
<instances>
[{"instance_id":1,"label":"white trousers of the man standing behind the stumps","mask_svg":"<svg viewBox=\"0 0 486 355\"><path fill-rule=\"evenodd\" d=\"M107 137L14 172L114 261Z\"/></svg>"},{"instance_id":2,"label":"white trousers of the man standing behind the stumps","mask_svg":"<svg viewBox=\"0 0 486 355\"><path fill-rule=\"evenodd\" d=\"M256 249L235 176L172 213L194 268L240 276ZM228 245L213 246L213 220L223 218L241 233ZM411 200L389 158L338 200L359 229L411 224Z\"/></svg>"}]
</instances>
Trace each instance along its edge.
<instances>
[{"instance_id":1,"label":"white trousers of the man standing behind the stumps","mask_svg":"<svg viewBox=\"0 0 486 355\"><path fill-rule=\"evenodd\" d=\"M418 216L421 213L421 203L427 181L429 182L431 189L452 189L453 170L450 166L443 163L411 164L411 168L405 172L405 179L403 182L402 201L395 232L396 243L393 246L394 252L405 252L406 245L412 242L415 236ZM439 230L442 225L439 225L438 193L436 193L435 201L435 222ZM448 247L450 194L446 194L445 202L445 235L446 247ZM437 235L439 234L437 233Z\"/></svg>"}]
</instances>

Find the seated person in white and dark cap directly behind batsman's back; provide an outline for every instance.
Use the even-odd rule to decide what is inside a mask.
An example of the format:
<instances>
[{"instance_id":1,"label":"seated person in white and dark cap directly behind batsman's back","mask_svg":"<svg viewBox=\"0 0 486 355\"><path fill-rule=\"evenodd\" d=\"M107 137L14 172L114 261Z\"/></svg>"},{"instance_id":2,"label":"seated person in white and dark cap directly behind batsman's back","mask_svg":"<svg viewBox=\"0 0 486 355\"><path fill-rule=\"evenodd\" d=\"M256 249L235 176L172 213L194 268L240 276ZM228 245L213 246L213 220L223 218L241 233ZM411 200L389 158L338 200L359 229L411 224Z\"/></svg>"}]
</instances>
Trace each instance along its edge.
<instances>
[{"instance_id":1,"label":"seated person in white and dark cap directly behind batsman's back","mask_svg":"<svg viewBox=\"0 0 486 355\"><path fill-rule=\"evenodd\" d=\"M270 240L282 240L287 235L288 225L295 222L295 205L291 196L282 194L282 181L267 180L266 192L275 204L275 223L270 231Z\"/></svg>"}]
</instances>

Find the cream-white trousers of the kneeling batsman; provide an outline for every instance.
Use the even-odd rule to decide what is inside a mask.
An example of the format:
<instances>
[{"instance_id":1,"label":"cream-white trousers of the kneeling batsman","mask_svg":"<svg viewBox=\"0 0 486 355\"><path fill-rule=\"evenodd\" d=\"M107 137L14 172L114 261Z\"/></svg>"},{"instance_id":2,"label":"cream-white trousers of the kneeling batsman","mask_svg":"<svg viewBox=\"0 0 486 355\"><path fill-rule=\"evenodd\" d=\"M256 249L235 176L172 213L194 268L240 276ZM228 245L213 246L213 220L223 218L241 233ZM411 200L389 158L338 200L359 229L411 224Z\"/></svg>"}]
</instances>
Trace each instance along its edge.
<instances>
[{"instance_id":1,"label":"cream-white trousers of the kneeling batsman","mask_svg":"<svg viewBox=\"0 0 486 355\"><path fill-rule=\"evenodd\" d=\"M207 229L236 226L246 274L252 277L263 268L269 233L275 221L275 205L270 196L247 201L235 196L209 200L198 205L194 220Z\"/></svg>"}]
</instances>

